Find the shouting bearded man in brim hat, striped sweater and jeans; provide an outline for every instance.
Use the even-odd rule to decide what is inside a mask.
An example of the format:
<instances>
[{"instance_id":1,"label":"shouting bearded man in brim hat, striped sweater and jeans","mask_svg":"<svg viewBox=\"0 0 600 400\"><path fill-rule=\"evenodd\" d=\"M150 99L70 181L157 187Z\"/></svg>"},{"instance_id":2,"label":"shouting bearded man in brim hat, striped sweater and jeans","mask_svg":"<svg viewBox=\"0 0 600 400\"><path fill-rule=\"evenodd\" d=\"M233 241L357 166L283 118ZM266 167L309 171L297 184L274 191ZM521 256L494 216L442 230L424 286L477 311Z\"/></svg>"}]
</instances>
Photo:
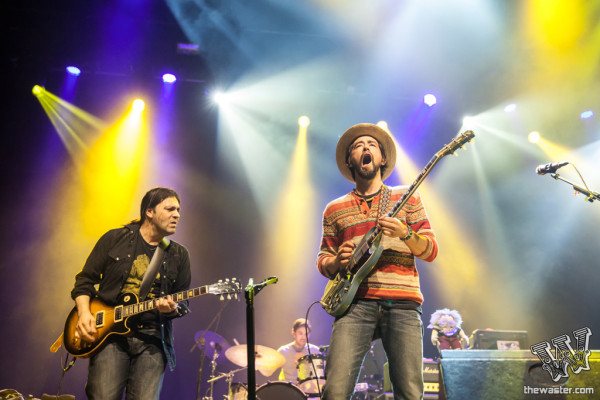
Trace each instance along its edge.
<instances>
[{"instance_id":1,"label":"shouting bearded man in brim hat, striped sweater and jeans","mask_svg":"<svg viewBox=\"0 0 600 400\"><path fill-rule=\"evenodd\" d=\"M348 310L333 323L323 399L350 399L364 356L377 338L388 357L394 399L422 399L423 295L415 258L435 259L435 234L418 192L394 218L386 216L407 188L383 184L396 164L394 140L384 129L352 126L338 141L336 161L355 188L325 208L319 271L333 279L376 225L383 233L383 252Z\"/></svg>"}]
</instances>

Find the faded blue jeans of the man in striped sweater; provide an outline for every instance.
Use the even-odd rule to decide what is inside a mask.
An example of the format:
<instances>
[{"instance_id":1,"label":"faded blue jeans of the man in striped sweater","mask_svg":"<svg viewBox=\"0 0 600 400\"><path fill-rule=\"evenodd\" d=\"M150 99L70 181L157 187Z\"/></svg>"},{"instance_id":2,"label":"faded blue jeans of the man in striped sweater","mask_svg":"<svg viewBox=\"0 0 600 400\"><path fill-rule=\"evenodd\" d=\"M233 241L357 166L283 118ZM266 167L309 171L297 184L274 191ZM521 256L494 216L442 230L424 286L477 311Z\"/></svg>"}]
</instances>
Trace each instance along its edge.
<instances>
[{"instance_id":1,"label":"faded blue jeans of the man in striped sweater","mask_svg":"<svg viewBox=\"0 0 600 400\"><path fill-rule=\"evenodd\" d=\"M423 398L423 324L416 310L358 300L333 323L323 400L349 400L374 339L388 357L394 400Z\"/></svg>"}]
</instances>

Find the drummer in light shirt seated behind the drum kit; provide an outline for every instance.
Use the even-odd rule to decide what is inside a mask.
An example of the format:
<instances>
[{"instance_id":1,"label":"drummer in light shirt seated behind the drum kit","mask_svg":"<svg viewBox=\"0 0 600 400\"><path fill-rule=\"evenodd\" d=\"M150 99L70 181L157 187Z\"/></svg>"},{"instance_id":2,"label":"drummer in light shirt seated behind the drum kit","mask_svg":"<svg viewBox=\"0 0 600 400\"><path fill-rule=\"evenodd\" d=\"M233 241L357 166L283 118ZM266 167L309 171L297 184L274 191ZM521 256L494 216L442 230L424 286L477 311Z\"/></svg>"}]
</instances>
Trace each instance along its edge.
<instances>
[{"instance_id":1,"label":"drummer in light shirt seated behind the drum kit","mask_svg":"<svg viewBox=\"0 0 600 400\"><path fill-rule=\"evenodd\" d=\"M292 337L294 341L281 346L278 352L285 357L285 364L281 367L279 380L296 383L298 380L298 370L296 365L298 360L308 354L308 336L310 335L310 321L304 318L298 318L292 326ZM310 354L320 354L319 347L310 344Z\"/></svg>"}]
</instances>

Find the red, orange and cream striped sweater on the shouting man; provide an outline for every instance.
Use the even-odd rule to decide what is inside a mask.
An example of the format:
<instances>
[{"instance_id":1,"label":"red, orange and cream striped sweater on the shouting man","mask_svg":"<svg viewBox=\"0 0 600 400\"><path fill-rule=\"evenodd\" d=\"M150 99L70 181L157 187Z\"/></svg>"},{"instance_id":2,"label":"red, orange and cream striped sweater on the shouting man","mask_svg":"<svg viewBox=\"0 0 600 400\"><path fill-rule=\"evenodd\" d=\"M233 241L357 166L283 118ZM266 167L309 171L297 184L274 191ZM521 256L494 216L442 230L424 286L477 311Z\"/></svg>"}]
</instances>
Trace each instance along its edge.
<instances>
[{"instance_id":1,"label":"red, orange and cream striped sweater on the shouting man","mask_svg":"<svg viewBox=\"0 0 600 400\"><path fill-rule=\"evenodd\" d=\"M397 186L391 189L392 195L384 216L400 200L407 187ZM343 242L352 240L358 244L365 233L376 225L380 215L380 198L381 194L377 195L369 209L363 199L350 192L327 205L323 213L323 236L317 256L317 267L321 274L330 278L323 268L323 263L327 258L335 257L337 248ZM357 299L403 299L423 303L415 257L433 261L438 245L418 192L410 197L396 218L410 225L416 234L427 240L427 248L422 254L412 254L400 239L383 235L383 254L371 273L362 281L355 296Z\"/></svg>"}]
</instances>

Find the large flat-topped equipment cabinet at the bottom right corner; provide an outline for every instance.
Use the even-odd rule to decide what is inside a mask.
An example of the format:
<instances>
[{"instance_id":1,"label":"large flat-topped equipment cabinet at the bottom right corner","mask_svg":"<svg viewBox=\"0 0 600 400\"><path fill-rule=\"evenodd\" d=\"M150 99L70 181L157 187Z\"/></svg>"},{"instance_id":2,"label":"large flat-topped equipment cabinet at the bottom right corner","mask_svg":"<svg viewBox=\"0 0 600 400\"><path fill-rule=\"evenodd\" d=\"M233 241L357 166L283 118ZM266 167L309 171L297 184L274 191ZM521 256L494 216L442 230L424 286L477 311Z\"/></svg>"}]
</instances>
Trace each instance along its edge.
<instances>
[{"instance_id":1,"label":"large flat-topped equipment cabinet at the bottom right corner","mask_svg":"<svg viewBox=\"0 0 600 400\"><path fill-rule=\"evenodd\" d=\"M440 399L598 399L600 398L600 351L592 350L590 369L558 382L542 369L529 350L442 350ZM546 388L546 389L544 389ZM553 394L542 393L550 390ZM563 388L559 393L560 388ZM572 388L572 389L569 389ZM598 393L573 394L575 388L594 388ZM571 394L566 391L571 390ZM444 397L445 396L445 397Z\"/></svg>"}]
</instances>

